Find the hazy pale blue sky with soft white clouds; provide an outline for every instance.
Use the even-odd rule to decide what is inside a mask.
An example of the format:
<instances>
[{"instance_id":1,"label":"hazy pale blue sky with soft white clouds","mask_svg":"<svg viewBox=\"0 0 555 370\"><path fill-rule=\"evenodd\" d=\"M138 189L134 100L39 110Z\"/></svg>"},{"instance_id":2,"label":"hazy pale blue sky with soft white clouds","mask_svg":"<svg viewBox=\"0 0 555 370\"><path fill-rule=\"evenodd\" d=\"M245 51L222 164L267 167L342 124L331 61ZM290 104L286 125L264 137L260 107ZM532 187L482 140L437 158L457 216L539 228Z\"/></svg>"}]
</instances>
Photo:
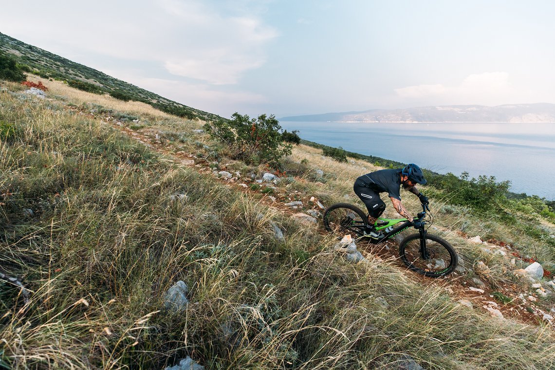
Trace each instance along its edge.
<instances>
[{"instance_id":1,"label":"hazy pale blue sky with soft white clouds","mask_svg":"<svg viewBox=\"0 0 555 370\"><path fill-rule=\"evenodd\" d=\"M0 32L226 117L555 103L553 1L0 4Z\"/></svg>"}]
</instances>

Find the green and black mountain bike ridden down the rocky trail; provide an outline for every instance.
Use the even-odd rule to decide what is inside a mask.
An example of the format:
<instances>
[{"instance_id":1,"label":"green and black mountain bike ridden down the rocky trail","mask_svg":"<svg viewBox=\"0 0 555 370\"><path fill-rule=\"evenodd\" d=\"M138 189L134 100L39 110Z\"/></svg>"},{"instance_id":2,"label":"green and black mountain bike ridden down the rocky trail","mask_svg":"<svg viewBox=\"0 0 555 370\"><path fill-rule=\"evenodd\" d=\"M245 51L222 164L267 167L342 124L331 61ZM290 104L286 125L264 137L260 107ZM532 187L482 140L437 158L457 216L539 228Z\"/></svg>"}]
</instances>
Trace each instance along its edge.
<instances>
[{"instance_id":1,"label":"green and black mountain bike ridden down the rocky trail","mask_svg":"<svg viewBox=\"0 0 555 370\"><path fill-rule=\"evenodd\" d=\"M384 235L380 239L364 236L368 216L352 204L337 203L328 207L323 219L327 231L365 238L372 244L380 244L401 231L414 227L418 233L407 235L399 244L399 257L410 270L424 276L441 277L450 274L457 267L458 257L451 244L437 235L427 233L426 225L429 227L433 223L433 215L427 204L422 203L422 212L413 221L379 217L374 226L376 231L381 231Z\"/></svg>"}]
</instances>

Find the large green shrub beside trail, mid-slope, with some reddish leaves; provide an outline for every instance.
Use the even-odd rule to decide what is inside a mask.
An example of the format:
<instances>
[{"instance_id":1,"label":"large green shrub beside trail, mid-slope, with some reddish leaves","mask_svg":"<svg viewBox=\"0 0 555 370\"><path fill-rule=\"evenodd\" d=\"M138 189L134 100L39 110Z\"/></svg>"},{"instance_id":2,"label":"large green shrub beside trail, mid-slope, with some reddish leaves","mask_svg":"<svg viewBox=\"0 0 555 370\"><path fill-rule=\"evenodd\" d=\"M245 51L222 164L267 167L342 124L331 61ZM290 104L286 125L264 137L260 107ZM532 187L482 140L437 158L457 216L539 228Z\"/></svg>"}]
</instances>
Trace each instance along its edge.
<instances>
[{"instance_id":1,"label":"large green shrub beside trail, mid-slope, with some reddish leaves","mask_svg":"<svg viewBox=\"0 0 555 370\"><path fill-rule=\"evenodd\" d=\"M291 154L292 146L283 144L279 121L274 115L261 114L258 118L235 112L231 120L206 123L204 130L216 140L227 144L233 159L247 164L276 162Z\"/></svg>"}]
</instances>

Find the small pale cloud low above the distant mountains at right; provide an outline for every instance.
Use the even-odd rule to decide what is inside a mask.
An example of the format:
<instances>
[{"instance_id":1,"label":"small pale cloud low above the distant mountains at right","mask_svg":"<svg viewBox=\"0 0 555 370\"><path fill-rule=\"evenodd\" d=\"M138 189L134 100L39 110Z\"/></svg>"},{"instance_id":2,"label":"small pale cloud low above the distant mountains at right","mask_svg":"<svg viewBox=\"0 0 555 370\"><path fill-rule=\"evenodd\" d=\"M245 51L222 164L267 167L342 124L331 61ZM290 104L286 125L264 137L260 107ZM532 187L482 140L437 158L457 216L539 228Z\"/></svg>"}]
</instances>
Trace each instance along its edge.
<instances>
[{"instance_id":1,"label":"small pale cloud low above the distant mountains at right","mask_svg":"<svg viewBox=\"0 0 555 370\"><path fill-rule=\"evenodd\" d=\"M395 93L403 99L435 100L451 104L503 104L517 95L506 72L471 74L456 86L407 86L395 89Z\"/></svg>"}]
</instances>

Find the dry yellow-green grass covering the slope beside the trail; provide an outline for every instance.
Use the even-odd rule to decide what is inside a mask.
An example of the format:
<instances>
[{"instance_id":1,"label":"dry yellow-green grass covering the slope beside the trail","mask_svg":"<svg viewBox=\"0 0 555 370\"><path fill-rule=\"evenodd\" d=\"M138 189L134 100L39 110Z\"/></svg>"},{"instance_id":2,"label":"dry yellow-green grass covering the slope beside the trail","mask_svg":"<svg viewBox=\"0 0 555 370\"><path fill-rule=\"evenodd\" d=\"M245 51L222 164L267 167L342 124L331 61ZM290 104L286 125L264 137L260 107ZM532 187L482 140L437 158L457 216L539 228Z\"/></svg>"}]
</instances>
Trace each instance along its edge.
<instances>
[{"instance_id":1,"label":"dry yellow-green grass covering the slope beside the trail","mask_svg":"<svg viewBox=\"0 0 555 370\"><path fill-rule=\"evenodd\" d=\"M53 95L70 89L51 86ZM90 103L91 94L72 94L67 101ZM0 194L9 194L0 207L0 265L32 292L25 303L16 287L0 285L0 364L146 369L191 356L217 369L387 368L408 354L434 369L555 366L551 329L458 305L447 286L413 279L394 259L366 254L369 262L351 265L333 250L332 236L98 119L8 93L0 103L0 120L18 128L0 143ZM134 113L158 114L144 108ZM190 125L168 122L184 132ZM306 175L283 188L330 202L375 169L295 149L292 160L304 158ZM312 180L315 168L324 170L322 185ZM417 210L416 199L407 197L407 207ZM448 231L462 226L459 218L441 213L438 225L472 263L477 248ZM285 230L285 241L270 222ZM189 286L191 304L162 310L178 280Z\"/></svg>"}]
</instances>

